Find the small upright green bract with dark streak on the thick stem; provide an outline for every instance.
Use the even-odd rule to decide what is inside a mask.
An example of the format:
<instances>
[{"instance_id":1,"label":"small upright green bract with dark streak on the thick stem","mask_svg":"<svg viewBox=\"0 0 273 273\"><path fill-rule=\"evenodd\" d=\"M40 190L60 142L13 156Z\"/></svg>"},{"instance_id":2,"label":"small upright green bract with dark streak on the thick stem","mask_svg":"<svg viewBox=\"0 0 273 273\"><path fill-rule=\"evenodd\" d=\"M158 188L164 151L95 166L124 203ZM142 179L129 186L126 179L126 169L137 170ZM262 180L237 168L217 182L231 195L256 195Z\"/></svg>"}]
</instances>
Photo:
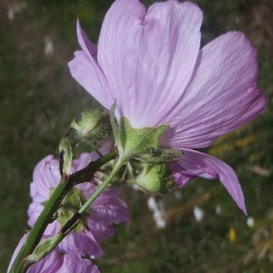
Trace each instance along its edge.
<instances>
[{"instance_id":1,"label":"small upright green bract with dark streak on the thick stem","mask_svg":"<svg viewBox=\"0 0 273 273\"><path fill-rule=\"evenodd\" d=\"M59 169L61 176L68 176L72 164L72 147L68 137L63 137L59 145Z\"/></svg>"}]
</instances>

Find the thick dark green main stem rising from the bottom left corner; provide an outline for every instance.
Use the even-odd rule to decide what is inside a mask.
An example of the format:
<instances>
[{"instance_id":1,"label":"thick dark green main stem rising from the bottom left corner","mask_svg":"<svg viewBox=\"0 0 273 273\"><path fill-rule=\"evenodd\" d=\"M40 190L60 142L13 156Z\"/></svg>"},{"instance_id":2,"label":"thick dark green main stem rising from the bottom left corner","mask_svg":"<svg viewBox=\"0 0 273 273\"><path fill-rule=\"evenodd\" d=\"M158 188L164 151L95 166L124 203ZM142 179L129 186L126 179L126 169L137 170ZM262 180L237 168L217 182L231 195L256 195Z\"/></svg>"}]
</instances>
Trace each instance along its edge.
<instances>
[{"instance_id":1,"label":"thick dark green main stem rising from the bottom left corner","mask_svg":"<svg viewBox=\"0 0 273 273\"><path fill-rule=\"evenodd\" d=\"M37 218L34 227L29 232L25 244L19 250L9 273L25 272L27 268L24 267L23 269L24 258L30 255L35 249L36 245L45 232L45 228L47 227L49 220L53 217L56 209L59 207L64 197L66 197L67 192L76 184L90 180L94 176L96 170L99 169L99 167L102 167L104 164L106 164L106 162L115 157L116 151L113 150L106 154L106 156L99 157L96 161L90 162L89 165L84 169L72 174L68 178L68 181L64 179L61 180L58 187L56 187L56 190L46 203L42 213Z\"/></svg>"}]
</instances>

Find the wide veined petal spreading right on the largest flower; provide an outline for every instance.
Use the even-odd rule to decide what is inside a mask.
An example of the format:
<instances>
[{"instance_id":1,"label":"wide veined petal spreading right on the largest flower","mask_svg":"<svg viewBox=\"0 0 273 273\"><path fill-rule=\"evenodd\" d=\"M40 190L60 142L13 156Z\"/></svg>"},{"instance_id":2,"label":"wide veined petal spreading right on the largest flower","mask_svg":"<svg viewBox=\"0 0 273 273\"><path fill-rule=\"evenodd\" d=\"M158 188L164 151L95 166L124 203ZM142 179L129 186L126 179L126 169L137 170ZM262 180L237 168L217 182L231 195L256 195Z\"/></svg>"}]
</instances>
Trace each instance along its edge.
<instances>
[{"instance_id":1,"label":"wide veined petal spreading right on the largest flower","mask_svg":"<svg viewBox=\"0 0 273 273\"><path fill-rule=\"evenodd\" d=\"M265 96L256 86L256 51L243 34L217 37L200 51L198 62L179 105L167 117L166 146L207 147L265 108Z\"/></svg>"}]
</instances>

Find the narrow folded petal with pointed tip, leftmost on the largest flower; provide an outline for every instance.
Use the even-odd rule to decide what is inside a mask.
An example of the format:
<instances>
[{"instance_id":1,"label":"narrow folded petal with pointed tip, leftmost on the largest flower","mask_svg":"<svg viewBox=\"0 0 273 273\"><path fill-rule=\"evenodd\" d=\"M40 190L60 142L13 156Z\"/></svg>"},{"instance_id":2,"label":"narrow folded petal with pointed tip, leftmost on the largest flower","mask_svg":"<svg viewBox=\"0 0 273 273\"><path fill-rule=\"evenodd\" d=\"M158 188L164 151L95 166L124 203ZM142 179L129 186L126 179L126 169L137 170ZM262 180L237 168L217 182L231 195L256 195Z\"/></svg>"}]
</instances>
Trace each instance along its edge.
<instances>
[{"instance_id":1,"label":"narrow folded petal with pointed tip, leftmost on the largest flower","mask_svg":"<svg viewBox=\"0 0 273 273\"><path fill-rule=\"evenodd\" d=\"M71 75L102 106L109 109L114 99L111 97L106 77L94 57L96 53L95 45L88 40L86 33L81 29L78 22L76 29L78 42L82 46L83 51L76 51L74 59L68 63Z\"/></svg>"}]
</instances>

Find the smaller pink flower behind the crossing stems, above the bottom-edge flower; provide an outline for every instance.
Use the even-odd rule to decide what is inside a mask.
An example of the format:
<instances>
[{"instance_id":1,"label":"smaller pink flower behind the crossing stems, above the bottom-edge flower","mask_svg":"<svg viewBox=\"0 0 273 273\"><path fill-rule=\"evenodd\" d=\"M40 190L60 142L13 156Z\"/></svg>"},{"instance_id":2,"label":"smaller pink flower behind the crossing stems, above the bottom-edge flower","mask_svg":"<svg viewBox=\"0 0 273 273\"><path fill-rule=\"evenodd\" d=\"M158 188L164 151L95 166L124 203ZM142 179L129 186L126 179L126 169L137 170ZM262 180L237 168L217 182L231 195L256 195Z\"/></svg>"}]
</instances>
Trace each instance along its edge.
<instances>
[{"instance_id":1,"label":"smaller pink flower behind the crossing stems, above the bottom-edge flower","mask_svg":"<svg viewBox=\"0 0 273 273\"><path fill-rule=\"evenodd\" d=\"M82 154L79 159L73 160L71 173L86 167L96 157L96 153ZM28 208L28 225L30 227L35 224L35 220L43 210L53 189L60 182L60 178L58 160L53 156L45 157L35 167L33 182L30 186L33 203ZM65 224L95 190L96 185L90 182L79 184L72 189L70 197L68 195L57 210L57 219L45 229L44 236L56 235L60 229L59 222L62 221ZM63 239L56 250L62 253L76 252L82 257L100 257L103 250L99 243L113 236L114 223L118 224L126 220L126 204L118 197L118 193L118 188L109 188L97 197L90 211L84 216L83 222L80 222L76 229Z\"/></svg>"}]
</instances>

